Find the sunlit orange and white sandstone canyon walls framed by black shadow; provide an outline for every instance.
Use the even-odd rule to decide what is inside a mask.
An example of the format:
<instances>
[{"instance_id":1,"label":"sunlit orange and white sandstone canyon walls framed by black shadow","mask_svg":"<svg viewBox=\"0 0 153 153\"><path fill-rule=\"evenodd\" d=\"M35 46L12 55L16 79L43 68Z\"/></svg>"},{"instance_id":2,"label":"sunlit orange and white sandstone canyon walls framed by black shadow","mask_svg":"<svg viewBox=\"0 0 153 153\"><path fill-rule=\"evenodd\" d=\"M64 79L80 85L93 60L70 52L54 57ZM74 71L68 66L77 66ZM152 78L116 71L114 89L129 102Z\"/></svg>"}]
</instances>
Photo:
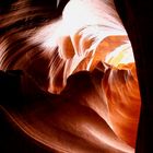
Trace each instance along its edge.
<instances>
[{"instance_id":1,"label":"sunlit orange and white sandstone canyon walls framed by black shadow","mask_svg":"<svg viewBox=\"0 0 153 153\"><path fill-rule=\"evenodd\" d=\"M22 70L21 96L15 107L3 103L2 111L55 152L133 153L141 98L131 43L113 0L71 0L42 24L36 17L49 12L38 14L27 2L12 4L17 9L10 14L21 19L2 15L0 69L9 76L8 70ZM32 24L20 26L25 15Z\"/></svg>"}]
</instances>

